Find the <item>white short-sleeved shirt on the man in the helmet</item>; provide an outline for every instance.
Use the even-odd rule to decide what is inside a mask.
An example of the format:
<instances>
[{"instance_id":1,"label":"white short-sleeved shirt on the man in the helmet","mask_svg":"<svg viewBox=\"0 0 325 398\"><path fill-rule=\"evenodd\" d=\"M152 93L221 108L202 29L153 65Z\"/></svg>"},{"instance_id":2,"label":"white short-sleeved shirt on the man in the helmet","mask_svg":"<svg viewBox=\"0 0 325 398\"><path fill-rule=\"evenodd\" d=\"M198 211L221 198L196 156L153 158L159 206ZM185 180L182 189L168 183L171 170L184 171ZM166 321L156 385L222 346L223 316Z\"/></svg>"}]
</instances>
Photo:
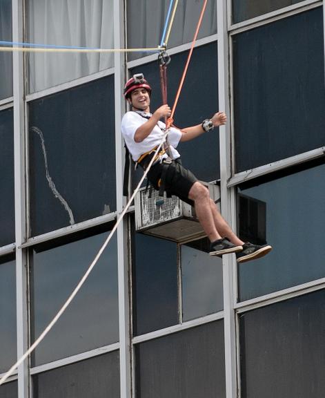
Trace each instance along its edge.
<instances>
[{"instance_id":1,"label":"white short-sleeved shirt on the man in the helmet","mask_svg":"<svg viewBox=\"0 0 325 398\"><path fill-rule=\"evenodd\" d=\"M151 117L151 113L143 113L148 117ZM135 132L141 126L148 121L148 118L139 115L137 112L127 112L121 121L121 131L126 142L126 146L128 146L128 150L132 155L132 159L137 162L139 157L146 152L151 151L161 143L162 138L164 137L164 129L166 124L164 122L158 122L156 126L152 129L151 133L145 138L142 142L135 142ZM181 131L179 129L175 129L175 127L170 127L170 133L168 134L168 144L170 146L171 155L173 155L174 159L180 157L179 153L176 151L176 147L181 140Z\"/></svg>"}]
</instances>

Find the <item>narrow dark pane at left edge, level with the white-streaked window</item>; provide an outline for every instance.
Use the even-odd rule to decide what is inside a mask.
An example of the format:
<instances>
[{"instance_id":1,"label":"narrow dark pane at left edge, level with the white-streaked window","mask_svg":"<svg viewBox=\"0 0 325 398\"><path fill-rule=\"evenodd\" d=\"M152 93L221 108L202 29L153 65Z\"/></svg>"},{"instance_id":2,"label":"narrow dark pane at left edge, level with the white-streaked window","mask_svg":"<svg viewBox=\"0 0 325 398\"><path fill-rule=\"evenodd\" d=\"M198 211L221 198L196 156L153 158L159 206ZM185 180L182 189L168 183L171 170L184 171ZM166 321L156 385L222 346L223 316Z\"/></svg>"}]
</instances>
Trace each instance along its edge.
<instances>
[{"instance_id":1,"label":"narrow dark pane at left edge, level with the white-streaked window","mask_svg":"<svg viewBox=\"0 0 325 398\"><path fill-rule=\"evenodd\" d=\"M12 108L0 112L0 246L14 243L14 120Z\"/></svg>"}]
</instances>

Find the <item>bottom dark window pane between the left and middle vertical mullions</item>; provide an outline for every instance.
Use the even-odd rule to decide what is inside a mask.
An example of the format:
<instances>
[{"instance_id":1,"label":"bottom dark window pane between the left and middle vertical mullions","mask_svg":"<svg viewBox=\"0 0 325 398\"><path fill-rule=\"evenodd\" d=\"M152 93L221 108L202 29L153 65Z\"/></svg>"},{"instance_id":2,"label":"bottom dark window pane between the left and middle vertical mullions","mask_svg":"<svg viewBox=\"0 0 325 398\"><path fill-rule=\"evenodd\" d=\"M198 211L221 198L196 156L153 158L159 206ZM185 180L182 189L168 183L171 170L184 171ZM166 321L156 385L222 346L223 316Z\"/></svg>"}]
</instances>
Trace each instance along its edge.
<instances>
[{"instance_id":1,"label":"bottom dark window pane between the left and middle vertical mullions","mask_svg":"<svg viewBox=\"0 0 325 398\"><path fill-rule=\"evenodd\" d=\"M119 398L119 391L118 351L33 377L35 398Z\"/></svg>"}]
</instances>

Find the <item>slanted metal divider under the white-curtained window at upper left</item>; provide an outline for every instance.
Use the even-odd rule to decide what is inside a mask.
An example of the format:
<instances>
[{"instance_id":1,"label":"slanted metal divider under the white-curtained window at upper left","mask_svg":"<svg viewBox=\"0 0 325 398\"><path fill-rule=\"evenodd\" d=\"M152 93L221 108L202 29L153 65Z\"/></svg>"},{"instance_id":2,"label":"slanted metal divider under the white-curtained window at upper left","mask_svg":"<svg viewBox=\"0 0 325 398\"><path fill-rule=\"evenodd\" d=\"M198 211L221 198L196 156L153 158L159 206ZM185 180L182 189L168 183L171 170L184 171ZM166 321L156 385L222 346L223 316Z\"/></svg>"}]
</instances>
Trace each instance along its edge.
<instances>
[{"instance_id":1,"label":"slanted metal divider under the white-curtained window at upper left","mask_svg":"<svg viewBox=\"0 0 325 398\"><path fill-rule=\"evenodd\" d=\"M72 80L71 82L66 82L62 84L58 84L57 86L53 86L50 88L46 88L45 90L38 91L37 93L32 93L26 95L26 101L34 101L35 99L39 99L41 97L46 97L51 94L59 93L60 91L68 90L69 88L81 86L85 83L90 83L95 80L101 79L101 77L106 77L110 75L114 75L115 68L109 68L105 70L101 70L100 72L92 73L91 75L79 77L78 79Z\"/></svg>"}]
</instances>

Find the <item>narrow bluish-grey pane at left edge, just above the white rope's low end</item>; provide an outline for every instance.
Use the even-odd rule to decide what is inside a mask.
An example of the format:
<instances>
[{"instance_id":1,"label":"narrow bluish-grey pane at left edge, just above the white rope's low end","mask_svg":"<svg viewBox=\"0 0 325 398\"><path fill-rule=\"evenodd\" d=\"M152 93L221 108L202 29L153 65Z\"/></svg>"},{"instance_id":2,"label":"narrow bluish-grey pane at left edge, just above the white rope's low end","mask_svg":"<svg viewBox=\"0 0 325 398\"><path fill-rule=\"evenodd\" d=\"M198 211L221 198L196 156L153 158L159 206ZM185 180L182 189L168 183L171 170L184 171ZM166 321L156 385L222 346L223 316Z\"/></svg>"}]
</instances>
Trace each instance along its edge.
<instances>
[{"instance_id":1,"label":"narrow bluish-grey pane at left edge, just above the white rope's low end","mask_svg":"<svg viewBox=\"0 0 325 398\"><path fill-rule=\"evenodd\" d=\"M0 257L0 314L1 374L17 361L16 263L11 255Z\"/></svg>"}]
</instances>

